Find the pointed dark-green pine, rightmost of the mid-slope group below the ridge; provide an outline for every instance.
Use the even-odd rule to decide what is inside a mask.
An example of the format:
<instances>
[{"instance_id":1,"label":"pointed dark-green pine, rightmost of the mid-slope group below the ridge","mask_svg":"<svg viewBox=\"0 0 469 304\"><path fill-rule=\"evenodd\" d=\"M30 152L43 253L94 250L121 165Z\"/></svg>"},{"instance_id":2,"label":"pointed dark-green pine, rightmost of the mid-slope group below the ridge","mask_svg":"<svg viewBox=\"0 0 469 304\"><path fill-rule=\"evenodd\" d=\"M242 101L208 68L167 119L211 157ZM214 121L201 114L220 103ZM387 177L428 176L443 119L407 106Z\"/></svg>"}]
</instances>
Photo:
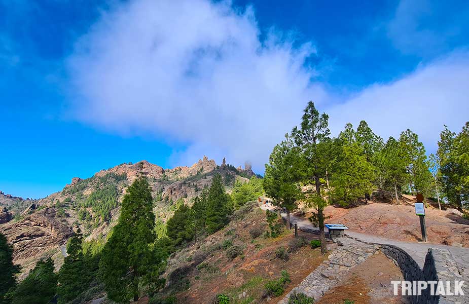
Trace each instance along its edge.
<instances>
[{"instance_id":1,"label":"pointed dark-green pine, rightmost of the mid-slope group below the ridge","mask_svg":"<svg viewBox=\"0 0 469 304\"><path fill-rule=\"evenodd\" d=\"M205 226L209 234L222 229L232 213L231 198L225 192L222 177L217 174L208 189Z\"/></svg>"}]
</instances>

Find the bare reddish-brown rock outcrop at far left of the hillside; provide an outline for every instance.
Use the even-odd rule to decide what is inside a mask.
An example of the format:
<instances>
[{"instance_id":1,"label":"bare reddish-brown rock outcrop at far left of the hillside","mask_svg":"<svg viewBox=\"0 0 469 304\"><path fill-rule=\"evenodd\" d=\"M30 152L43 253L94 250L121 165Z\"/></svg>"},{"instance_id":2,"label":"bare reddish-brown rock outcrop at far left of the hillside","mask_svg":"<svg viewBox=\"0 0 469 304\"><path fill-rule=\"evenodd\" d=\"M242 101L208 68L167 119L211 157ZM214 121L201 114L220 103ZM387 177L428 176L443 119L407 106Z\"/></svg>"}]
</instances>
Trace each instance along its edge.
<instances>
[{"instance_id":1,"label":"bare reddish-brown rock outcrop at far left of the hillside","mask_svg":"<svg viewBox=\"0 0 469 304\"><path fill-rule=\"evenodd\" d=\"M71 227L60 217L54 208L44 208L20 221L0 226L0 233L13 245L13 261L29 265L44 254L60 250L73 235Z\"/></svg>"}]
</instances>

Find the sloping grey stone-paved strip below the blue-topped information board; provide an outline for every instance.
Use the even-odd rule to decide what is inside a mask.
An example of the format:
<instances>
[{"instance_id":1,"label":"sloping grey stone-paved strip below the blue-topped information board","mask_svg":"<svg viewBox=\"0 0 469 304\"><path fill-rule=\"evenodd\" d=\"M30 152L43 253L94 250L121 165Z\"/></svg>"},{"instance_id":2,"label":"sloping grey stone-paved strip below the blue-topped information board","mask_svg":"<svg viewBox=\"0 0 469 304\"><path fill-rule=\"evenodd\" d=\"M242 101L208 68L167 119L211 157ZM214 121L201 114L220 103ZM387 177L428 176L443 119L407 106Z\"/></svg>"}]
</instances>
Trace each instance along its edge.
<instances>
[{"instance_id":1,"label":"sloping grey stone-paved strip below the blue-topped information board","mask_svg":"<svg viewBox=\"0 0 469 304\"><path fill-rule=\"evenodd\" d=\"M288 297L294 292L304 293L315 300L319 299L329 289L339 285L350 268L362 264L368 257L379 252L379 246L365 244L349 238L340 240L339 246L298 286L288 292L279 304L286 304Z\"/></svg>"}]
</instances>

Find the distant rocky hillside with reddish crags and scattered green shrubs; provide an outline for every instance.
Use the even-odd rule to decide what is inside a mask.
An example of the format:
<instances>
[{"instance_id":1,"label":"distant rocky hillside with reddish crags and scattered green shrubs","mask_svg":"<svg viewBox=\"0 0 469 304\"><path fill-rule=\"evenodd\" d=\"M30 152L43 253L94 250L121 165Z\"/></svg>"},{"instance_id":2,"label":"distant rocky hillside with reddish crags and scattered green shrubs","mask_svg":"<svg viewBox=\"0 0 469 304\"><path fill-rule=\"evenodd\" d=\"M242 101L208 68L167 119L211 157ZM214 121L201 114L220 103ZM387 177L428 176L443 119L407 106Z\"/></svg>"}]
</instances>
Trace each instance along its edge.
<instances>
[{"instance_id":1,"label":"distant rocky hillside with reddish crags and scattered green shrubs","mask_svg":"<svg viewBox=\"0 0 469 304\"><path fill-rule=\"evenodd\" d=\"M117 221L126 187L140 172L152 187L154 212L160 224L179 204L191 205L215 174L222 175L227 191L236 179L254 174L250 167L235 168L225 161L218 166L204 156L191 167L173 169L147 161L121 164L87 179L74 177L62 191L40 200L1 193L0 219L4 221L0 222L0 232L13 244L14 262L22 266L22 276L43 256L53 256L59 268L66 241L78 228L87 240L104 240Z\"/></svg>"}]
</instances>

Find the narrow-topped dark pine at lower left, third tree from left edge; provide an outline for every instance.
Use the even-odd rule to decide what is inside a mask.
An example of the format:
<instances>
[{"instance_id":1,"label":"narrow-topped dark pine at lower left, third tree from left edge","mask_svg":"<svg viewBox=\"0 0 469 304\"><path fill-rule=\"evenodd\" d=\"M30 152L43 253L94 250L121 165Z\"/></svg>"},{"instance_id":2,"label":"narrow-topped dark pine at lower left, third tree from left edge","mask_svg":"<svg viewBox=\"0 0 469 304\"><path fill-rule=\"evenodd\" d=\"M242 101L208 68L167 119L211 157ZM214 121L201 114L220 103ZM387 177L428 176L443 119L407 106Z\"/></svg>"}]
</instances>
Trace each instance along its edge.
<instances>
[{"instance_id":1,"label":"narrow-topped dark pine at lower left, third tree from left edge","mask_svg":"<svg viewBox=\"0 0 469 304\"><path fill-rule=\"evenodd\" d=\"M58 273L57 295L59 303L75 299L88 288L91 274L83 254L82 236L78 233L67 241L67 256Z\"/></svg>"}]
</instances>

